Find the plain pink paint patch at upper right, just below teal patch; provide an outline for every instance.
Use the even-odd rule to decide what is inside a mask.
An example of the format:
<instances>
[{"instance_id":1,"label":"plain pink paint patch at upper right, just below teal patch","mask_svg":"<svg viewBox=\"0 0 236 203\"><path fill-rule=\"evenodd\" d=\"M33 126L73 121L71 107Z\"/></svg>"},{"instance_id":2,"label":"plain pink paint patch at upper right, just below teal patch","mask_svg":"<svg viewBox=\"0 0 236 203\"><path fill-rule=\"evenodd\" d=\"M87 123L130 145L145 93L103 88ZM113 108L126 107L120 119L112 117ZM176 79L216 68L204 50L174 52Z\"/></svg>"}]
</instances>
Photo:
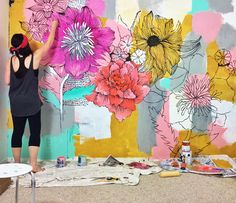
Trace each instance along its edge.
<instances>
[{"instance_id":1,"label":"plain pink paint patch at upper right, just below teal patch","mask_svg":"<svg viewBox=\"0 0 236 203\"><path fill-rule=\"evenodd\" d=\"M201 35L203 39L209 43L215 40L222 23L223 18L221 14L201 12L193 16L192 29L193 32Z\"/></svg>"}]
</instances>

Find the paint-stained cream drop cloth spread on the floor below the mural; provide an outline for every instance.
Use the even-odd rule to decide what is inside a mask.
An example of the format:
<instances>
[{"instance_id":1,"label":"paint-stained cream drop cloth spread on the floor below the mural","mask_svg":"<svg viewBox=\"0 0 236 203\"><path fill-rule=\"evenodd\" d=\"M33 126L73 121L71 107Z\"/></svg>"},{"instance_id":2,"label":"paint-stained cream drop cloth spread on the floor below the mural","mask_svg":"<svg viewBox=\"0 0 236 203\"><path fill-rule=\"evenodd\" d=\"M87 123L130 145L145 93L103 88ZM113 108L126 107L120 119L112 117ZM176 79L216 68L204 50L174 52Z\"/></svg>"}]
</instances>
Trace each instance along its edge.
<instances>
[{"instance_id":1,"label":"paint-stained cream drop cloth spread on the floor below the mural","mask_svg":"<svg viewBox=\"0 0 236 203\"><path fill-rule=\"evenodd\" d=\"M120 160L120 159L119 159ZM44 171L35 174L36 187L56 186L88 186L105 184L137 185L140 175L158 173L162 169L158 164L147 159L124 158L123 165L103 166L106 159L92 159L86 166L78 166L77 161L68 161L63 168L57 168L55 161L43 162ZM138 169L127 164L139 161L151 167ZM20 178L19 184L30 187L31 177L25 175ZM12 185L14 187L14 184Z\"/></svg>"}]
</instances>

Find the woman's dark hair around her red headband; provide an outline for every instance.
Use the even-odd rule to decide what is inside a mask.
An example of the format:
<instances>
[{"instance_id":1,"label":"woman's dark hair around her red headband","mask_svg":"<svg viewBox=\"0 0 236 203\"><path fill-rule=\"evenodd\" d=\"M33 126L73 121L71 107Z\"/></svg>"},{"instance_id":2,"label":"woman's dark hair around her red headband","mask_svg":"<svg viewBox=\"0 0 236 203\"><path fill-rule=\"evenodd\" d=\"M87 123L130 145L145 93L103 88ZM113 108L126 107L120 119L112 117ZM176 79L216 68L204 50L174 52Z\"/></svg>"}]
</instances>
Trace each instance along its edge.
<instances>
[{"instance_id":1,"label":"woman's dark hair around her red headband","mask_svg":"<svg viewBox=\"0 0 236 203\"><path fill-rule=\"evenodd\" d=\"M17 48L23 42L24 36L23 34L14 34L11 38L11 45L13 48ZM29 43L24 48L19 48L17 50L10 49L11 54L15 54L16 56L22 55L23 57L27 57L32 54L32 50L30 48Z\"/></svg>"}]
</instances>

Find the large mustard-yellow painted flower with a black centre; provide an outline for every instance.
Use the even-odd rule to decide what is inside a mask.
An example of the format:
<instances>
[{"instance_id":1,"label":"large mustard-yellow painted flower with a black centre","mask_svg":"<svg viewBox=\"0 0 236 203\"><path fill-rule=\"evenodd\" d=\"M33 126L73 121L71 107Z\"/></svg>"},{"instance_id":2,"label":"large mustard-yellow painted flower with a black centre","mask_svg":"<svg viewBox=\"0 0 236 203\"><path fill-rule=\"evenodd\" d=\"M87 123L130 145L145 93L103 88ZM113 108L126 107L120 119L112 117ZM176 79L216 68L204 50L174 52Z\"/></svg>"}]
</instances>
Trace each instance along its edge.
<instances>
[{"instance_id":1,"label":"large mustard-yellow painted flower with a black centre","mask_svg":"<svg viewBox=\"0 0 236 203\"><path fill-rule=\"evenodd\" d=\"M154 17L142 12L134 27L131 52L137 49L146 54L145 68L152 73L152 80L162 78L180 60L182 44L181 26L174 29L173 19Z\"/></svg>"}]
</instances>

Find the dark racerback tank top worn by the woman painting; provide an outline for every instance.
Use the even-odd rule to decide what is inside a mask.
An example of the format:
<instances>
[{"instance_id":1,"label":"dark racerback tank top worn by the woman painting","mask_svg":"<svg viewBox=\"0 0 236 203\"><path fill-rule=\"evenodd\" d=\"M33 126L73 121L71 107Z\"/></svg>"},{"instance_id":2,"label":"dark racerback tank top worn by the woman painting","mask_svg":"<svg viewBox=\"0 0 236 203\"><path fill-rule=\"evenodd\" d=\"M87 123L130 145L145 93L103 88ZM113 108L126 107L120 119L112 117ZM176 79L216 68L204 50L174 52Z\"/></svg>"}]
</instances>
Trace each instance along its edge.
<instances>
[{"instance_id":1,"label":"dark racerback tank top worn by the woman painting","mask_svg":"<svg viewBox=\"0 0 236 203\"><path fill-rule=\"evenodd\" d=\"M10 71L9 99L13 116L31 116L40 111L41 100L38 94L38 70L33 69L33 54L29 69L25 67L25 57L19 59L19 69Z\"/></svg>"}]
</instances>

